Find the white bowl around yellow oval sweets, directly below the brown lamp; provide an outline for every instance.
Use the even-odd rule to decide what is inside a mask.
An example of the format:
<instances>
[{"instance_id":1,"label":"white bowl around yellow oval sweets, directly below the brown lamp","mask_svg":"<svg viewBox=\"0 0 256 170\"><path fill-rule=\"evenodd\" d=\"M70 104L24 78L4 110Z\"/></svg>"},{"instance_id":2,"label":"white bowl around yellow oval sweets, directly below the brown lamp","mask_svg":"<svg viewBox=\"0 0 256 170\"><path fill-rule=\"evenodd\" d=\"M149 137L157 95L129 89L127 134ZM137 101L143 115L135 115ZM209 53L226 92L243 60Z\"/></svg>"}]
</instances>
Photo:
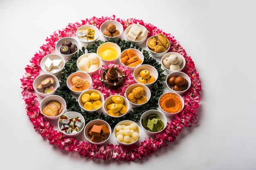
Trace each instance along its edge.
<instances>
[{"instance_id":1,"label":"white bowl around yellow oval sweets, directly below the brown lamp","mask_svg":"<svg viewBox=\"0 0 256 170\"><path fill-rule=\"evenodd\" d=\"M127 111L124 113L124 114L119 114L119 116L113 116L113 115L110 115L108 113L108 105L112 104L112 103L115 103L113 100L112 100L112 97L120 97L124 100L124 103L123 105L126 106L126 109ZM109 96L108 98L106 98L106 100L104 101L104 104L103 104L103 109L105 111L105 113L108 115L108 116L111 116L113 118L121 118L122 116L126 115L129 111L130 111L130 105L129 105L129 101L127 98L125 98L124 96L121 96L121 95L113 95L113 96Z\"/></svg>"}]
</instances>

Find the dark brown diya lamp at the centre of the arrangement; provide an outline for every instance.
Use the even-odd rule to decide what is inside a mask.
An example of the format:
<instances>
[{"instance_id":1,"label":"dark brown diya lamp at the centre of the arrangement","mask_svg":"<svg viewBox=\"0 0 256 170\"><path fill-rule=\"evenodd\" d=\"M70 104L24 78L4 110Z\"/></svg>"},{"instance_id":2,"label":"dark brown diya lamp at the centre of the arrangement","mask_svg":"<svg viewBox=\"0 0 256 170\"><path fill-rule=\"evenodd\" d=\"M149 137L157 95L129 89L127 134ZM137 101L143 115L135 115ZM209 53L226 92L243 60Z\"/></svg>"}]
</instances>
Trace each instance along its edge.
<instances>
[{"instance_id":1,"label":"dark brown diya lamp at the centre of the arrangement","mask_svg":"<svg viewBox=\"0 0 256 170\"><path fill-rule=\"evenodd\" d=\"M119 68L115 66L102 70L101 82L104 83L108 89L117 89L122 85L125 75Z\"/></svg>"}]
</instances>

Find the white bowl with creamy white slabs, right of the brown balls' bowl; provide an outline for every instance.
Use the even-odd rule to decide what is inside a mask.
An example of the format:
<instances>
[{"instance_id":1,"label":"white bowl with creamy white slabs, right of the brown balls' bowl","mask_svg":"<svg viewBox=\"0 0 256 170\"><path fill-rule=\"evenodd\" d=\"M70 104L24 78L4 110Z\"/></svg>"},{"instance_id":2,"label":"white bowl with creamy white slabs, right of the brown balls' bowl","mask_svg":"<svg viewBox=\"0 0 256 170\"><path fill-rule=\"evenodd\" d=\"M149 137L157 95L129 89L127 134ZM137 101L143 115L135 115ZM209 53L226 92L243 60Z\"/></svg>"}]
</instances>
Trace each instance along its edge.
<instances>
[{"instance_id":1,"label":"white bowl with creamy white slabs, right of the brown balls' bowl","mask_svg":"<svg viewBox=\"0 0 256 170\"><path fill-rule=\"evenodd\" d=\"M128 41L136 44L142 44L148 37L148 30L140 24L129 25L125 30L125 36Z\"/></svg>"}]
</instances>

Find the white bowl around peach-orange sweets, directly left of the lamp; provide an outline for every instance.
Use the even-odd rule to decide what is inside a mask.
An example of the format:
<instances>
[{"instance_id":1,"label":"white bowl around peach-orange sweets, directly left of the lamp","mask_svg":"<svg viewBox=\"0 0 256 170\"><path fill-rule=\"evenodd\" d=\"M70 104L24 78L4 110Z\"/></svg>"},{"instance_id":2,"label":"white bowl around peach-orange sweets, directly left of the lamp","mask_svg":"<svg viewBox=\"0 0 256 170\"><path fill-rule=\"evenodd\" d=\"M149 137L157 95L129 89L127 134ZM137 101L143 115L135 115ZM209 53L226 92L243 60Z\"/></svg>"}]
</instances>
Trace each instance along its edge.
<instances>
[{"instance_id":1,"label":"white bowl around peach-orange sweets, directly left of the lamp","mask_svg":"<svg viewBox=\"0 0 256 170\"><path fill-rule=\"evenodd\" d=\"M79 92L72 90L73 84L72 84L71 80L74 76L80 76L83 80L87 80L90 83L90 85L88 86L87 89L90 89L90 87L92 86L92 77L86 72L74 72L74 73L70 74L70 76L68 76L68 78L67 78L67 87L70 89L70 91L72 93L74 93L76 95L80 95L83 91L86 90L86 89L82 89Z\"/></svg>"}]
</instances>

